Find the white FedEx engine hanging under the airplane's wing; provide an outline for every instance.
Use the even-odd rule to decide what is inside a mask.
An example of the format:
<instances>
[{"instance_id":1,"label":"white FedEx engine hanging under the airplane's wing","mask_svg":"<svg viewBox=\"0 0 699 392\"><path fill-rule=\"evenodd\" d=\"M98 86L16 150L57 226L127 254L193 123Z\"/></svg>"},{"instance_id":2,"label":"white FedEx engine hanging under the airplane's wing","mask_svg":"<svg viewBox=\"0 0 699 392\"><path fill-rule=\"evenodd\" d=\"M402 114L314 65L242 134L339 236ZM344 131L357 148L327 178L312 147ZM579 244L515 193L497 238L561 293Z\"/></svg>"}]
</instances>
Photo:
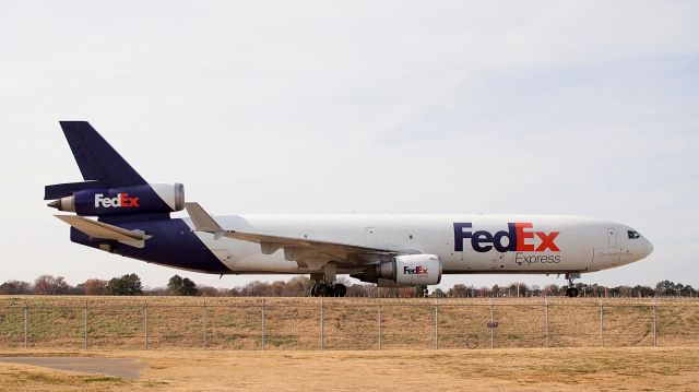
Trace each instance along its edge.
<instances>
[{"instance_id":1,"label":"white FedEx engine hanging under the airplane's wing","mask_svg":"<svg viewBox=\"0 0 699 392\"><path fill-rule=\"evenodd\" d=\"M441 281L441 260L435 254L396 256L353 277L363 282L391 282L404 286L436 285Z\"/></svg>"}]
</instances>

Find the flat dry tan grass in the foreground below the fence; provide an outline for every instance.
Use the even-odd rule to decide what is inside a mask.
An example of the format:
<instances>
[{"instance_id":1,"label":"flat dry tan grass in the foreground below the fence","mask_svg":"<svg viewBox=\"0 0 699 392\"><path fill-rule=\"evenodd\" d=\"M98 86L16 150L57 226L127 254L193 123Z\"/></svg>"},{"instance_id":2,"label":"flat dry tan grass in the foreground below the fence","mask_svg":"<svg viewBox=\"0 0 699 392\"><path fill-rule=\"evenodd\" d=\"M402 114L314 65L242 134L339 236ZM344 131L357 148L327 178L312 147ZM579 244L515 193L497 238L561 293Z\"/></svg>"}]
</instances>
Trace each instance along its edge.
<instances>
[{"instance_id":1,"label":"flat dry tan grass in the foreground below the fence","mask_svg":"<svg viewBox=\"0 0 699 392\"><path fill-rule=\"evenodd\" d=\"M493 351L0 352L135 358L134 380L0 364L12 391L602 390L695 391L698 347Z\"/></svg>"}]
</instances>

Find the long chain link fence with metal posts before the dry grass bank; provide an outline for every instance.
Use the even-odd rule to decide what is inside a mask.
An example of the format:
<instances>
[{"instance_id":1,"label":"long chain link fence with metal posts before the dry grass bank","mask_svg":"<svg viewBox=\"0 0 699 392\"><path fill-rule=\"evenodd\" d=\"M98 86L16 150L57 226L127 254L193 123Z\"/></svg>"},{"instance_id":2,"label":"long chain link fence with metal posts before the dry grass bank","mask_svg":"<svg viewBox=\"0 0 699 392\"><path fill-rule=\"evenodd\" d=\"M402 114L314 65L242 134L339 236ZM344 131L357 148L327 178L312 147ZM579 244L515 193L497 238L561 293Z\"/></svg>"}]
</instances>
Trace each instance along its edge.
<instances>
[{"instance_id":1,"label":"long chain link fence with metal posts before the dry grass bank","mask_svg":"<svg viewBox=\"0 0 699 392\"><path fill-rule=\"evenodd\" d=\"M24 297L0 347L449 349L699 345L699 300Z\"/></svg>"}]
</instances>

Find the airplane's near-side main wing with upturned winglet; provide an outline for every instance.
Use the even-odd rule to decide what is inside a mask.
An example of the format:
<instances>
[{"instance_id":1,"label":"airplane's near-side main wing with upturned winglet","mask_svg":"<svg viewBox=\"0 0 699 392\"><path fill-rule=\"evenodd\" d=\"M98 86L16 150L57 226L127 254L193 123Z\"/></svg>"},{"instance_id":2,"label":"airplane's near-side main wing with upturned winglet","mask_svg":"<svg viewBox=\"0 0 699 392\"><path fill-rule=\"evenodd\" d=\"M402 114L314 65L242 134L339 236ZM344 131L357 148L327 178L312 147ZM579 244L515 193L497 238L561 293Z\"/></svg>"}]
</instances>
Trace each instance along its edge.
<instances>
[{"instance_id":1,"label":"airplane's near-side main wing with upturned winglet","mask_svg":"<svg viewBox=\"0 0 699 392\"><path fill-rule=\"evenodd\" d=\"M345 266L360 266L406 253L405 251L392 249L369 248L309 238L225 230L199 203L185 203L185 207L199 231L212 233L214 238L228 237L259 243L264 254L272 254L280 249L284 249L286 260L296 261L299 266L308 266L313 270L320 269L329 261L337 261Z\"/></svg>"}]
</instances>

